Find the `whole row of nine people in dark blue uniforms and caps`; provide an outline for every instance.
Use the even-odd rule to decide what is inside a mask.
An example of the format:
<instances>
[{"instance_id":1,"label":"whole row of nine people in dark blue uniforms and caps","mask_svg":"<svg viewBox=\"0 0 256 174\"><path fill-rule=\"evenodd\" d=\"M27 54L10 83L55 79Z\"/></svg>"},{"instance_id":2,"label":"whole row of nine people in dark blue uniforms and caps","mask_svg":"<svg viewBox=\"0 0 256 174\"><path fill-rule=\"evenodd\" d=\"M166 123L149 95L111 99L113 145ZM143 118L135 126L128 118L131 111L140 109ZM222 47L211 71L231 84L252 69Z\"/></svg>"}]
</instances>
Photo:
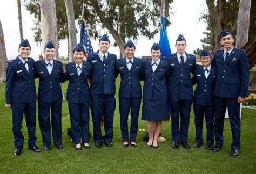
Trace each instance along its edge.
<instances>
[{"instance_id":1,"label":"whole row of nine people in dark blue uniforms and caps","mask_svg":"<svg viewBox=\"0 0 256 174\"><path fill-rule=\"evenodd\" d=\"M132 147L137 147L138 118L143 98L142 120L148 121L149 132L146 146L158 148L162 121L169 119L169 97L173 149L178 149L180 143L184 148L190 148L187 139L193 103L196 126L194 147L199 148L203 143L205 115L206 149L221 149L227 108L233 137L230 155L237 156L240 149L240 102L247 96L248 90L248 60L244 50L233 47L234 39L230 32L221 32L220 40L224 50L216 52L213 59L208 50L203 50L200 55L202 65L197 65L196 57L185 52L186 40L181 34L176 40L176 53L167 56L166 60L161 60L161 49L154 43L150 51L152 59L144 62L134 57L136 46L131 40L125 44L125 57L117 60L116 55L108 52L110 40L105 34L99 40L98 52L90 54L86 62L83 61L84 47L77 44L73 49L74 61L66 64L64 69L60 61L53 60L55 48L51 41L45 45L44 59L34 62L29 57L31 47L28 40L22 40L18 49L19 55L8 63L6 69L5 106L12 109L14 155L20 155L23 149L23 114L29 132L29 149L41 151L36 146L35 135L35 78L39 78L38 120L45 150L51 150L51 131L56 148L63 149L60 83L65 81L69 81L66 99L70 113L72 142L76 144L76 150L82 150L81 142L86 149L90 149L89 107L95 146L101 148L104 142L106 147L112 147L113 116L116 108L115 81L120 74L119 111L123 147L128 147L129 143ZM144 81L143 95L140 81ZM193 85L196 83L197 88L193 95ZM129 113L130 135L127 124ZM102 117L104 136L101 132ZM213 147L214 136L216 144Z\"/></svg>"}]
</instances>

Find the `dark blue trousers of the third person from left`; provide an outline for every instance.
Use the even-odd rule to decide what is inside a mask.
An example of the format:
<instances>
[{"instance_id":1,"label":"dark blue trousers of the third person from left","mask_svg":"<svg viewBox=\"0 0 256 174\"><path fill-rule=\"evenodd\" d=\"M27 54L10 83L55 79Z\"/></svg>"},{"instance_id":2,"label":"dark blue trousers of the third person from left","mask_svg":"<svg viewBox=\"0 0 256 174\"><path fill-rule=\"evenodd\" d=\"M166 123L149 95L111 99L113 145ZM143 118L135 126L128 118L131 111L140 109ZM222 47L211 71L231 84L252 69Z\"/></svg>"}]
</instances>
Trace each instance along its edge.
<instances>
[{"instance_id":1,"label":"dark blue trousers of the third person from left","mask_svg":"<svg viewBox=\"0 0 256 174\"><path fill-rule=\"evenodd\" d=\"M69 114L72 130L72 142L80 143L81 137L83 143L89 143L89 102L71 103L69 102Z\"/></svg>"}]
</instances>

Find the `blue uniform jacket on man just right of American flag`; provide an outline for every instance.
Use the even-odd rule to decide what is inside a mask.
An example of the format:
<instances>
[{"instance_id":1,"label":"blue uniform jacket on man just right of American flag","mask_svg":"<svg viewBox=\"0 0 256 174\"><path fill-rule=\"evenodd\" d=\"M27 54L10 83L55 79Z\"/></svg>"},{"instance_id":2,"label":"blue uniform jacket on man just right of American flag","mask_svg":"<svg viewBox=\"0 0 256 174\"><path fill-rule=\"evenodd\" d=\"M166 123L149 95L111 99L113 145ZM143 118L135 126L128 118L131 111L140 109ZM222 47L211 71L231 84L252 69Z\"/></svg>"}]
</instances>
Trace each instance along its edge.
<instances>
[{"instance_id":1,"label":"blue uniform jacket on man just right of American flag","mask_svg":"<svg viewBox=\"0 0 256 174\"><path fill-rule=\"evenodd\" d=\"M93 67L90 77L90 94L114 95L116 93L115 64L117 56L109 53L106 62L103 62L100 60L98 52L89 54L87 58L87 62Z\"/></svg>"}]
</instances>

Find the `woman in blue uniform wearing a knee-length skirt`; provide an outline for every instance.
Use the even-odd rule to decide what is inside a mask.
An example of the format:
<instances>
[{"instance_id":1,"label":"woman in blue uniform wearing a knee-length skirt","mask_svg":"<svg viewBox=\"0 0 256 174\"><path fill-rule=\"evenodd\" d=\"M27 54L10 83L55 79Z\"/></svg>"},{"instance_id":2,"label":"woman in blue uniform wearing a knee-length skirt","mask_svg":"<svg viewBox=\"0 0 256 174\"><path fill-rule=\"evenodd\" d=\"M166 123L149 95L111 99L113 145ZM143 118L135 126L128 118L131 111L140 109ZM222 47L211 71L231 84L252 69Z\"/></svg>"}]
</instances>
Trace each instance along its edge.
<instances>
[{"instance_id":1,"label":"woman in blue uniform wearing a knee-length skirt","mask_svg":"<svg viewBox=\"0 0 256 174\"><path fill-rule=\"evenodd\" d=\"M169 76L169 64L165 60L160 60L161 49L158 44L152 45L150 53L152 59L144 61L142 120L148 121L147 147L156 149L162 121L169 118L165 84L165 77Z\"/></svg>"}]
</instances>

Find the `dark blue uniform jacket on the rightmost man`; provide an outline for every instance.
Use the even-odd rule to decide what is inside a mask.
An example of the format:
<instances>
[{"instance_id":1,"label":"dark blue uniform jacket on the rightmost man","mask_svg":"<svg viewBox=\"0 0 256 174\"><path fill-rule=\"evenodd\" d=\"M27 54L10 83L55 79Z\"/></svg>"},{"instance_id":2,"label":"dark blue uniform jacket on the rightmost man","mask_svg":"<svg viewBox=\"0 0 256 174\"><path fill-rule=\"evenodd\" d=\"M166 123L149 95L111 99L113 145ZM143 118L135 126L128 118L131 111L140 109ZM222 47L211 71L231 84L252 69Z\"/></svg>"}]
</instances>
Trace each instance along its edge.
<instances>
[{"instance_id":1,"label":"dark blue uniform jacket on the rightmost man","mask_svg":"<svg viewBox=\"0 0 256 174\"><path fill-rule=\"evenodd\" d=\"M217 51L212 59L218 72L214 96L247 97L250 70L246 51L234 47L225 61L223 53L224 50Z\"/></svg>"}]
</instances>

